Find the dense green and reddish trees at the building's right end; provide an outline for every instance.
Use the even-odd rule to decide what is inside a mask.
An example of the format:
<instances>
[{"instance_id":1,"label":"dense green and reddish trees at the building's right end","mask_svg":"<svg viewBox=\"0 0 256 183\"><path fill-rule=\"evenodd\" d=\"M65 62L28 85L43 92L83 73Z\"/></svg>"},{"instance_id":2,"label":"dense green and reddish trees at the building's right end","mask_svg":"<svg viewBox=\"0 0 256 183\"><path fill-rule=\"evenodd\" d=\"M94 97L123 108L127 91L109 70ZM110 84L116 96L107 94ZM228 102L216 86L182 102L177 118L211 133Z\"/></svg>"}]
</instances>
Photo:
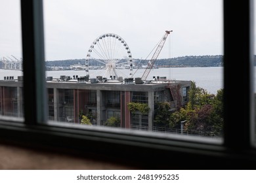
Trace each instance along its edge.
<instances>
[{"instance_id":1,"label":"dense green and reddish trees at the building's right end","mask_svg":"<svg viewBox=\"0 0 256 183\"><path fill-rule=\"evenodd\" d=\"M223 131L223 89L217 95L196 87L195 82L189 91L188 105L169 117L169 127L179 128L180 122L186 120L185 130L203 131L205 135L220 135ZM207 134L207 133L211 134Z\"/></svg>"}]
</instances>

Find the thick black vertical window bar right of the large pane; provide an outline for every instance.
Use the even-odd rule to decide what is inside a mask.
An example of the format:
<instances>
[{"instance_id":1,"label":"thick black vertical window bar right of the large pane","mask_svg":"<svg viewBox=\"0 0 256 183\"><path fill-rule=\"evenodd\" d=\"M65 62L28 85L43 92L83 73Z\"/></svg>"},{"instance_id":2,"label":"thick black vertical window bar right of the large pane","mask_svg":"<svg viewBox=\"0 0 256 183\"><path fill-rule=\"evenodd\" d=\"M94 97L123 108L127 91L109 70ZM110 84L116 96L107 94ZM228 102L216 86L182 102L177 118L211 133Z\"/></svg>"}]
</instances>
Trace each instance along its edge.
<instances>
[{"instance_id":1,"label":"thick black vertical window bar right of the large pane","mask_svg":"<svg viewBox=\"0 0 256 183\"><path fill-rule=\"evenodd\" d=\"M251 147L253 127L252 0L224 0L224 144Z\"/></svg>"}]
</instances>

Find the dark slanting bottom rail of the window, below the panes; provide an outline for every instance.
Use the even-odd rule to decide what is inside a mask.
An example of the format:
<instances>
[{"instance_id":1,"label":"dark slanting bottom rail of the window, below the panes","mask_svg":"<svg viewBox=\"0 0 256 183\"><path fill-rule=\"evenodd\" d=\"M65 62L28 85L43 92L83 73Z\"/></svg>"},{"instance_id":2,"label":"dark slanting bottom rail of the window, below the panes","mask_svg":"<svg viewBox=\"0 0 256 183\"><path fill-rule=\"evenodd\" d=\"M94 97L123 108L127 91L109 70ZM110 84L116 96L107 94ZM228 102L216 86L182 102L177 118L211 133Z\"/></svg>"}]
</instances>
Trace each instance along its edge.
<instances>
[{"instance_id":1,"label":"dark slanting bottom rail of the window, below the panes","mask_svg":"<svg viewBox=\"0 0 256 183\"><path fill-rule=\"evenodd\" d=\"M112 127L0 122L1 142L137 166L142 169L255 169L255 150L231 150L220 139Z\"/></svg>"}]
</instances>

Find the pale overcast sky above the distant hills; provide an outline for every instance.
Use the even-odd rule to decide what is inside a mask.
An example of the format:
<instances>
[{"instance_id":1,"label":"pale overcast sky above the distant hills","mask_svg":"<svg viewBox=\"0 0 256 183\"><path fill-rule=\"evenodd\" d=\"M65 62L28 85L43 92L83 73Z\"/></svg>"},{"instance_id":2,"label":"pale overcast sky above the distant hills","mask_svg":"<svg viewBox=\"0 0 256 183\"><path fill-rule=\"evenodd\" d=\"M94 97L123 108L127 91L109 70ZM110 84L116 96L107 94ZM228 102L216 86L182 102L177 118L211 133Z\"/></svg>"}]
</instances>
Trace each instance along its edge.
<instances>
[{"instance_id":1,"label":"pale overcast sky above the distant hills","mask_svg":"<svg viewBox=\"0 0 256 183\"><path fill-rule=\"evenodd\" d=\"M22 58L20 1L0 1L0 58ZM115 33L133 58L146 58L166 30L159 58L223 54L221 0L45 0L45 59L86 58L92 42Z\"/></svg>"}]
</instances>

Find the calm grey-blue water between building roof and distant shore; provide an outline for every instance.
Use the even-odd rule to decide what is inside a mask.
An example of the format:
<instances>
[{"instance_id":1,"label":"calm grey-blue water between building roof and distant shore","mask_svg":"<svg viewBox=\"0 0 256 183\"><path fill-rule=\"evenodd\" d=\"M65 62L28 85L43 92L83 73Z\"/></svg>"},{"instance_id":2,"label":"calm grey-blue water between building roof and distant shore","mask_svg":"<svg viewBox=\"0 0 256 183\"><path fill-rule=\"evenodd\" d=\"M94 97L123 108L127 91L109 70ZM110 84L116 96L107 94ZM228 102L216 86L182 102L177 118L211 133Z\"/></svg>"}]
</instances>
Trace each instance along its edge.
<instances>
[{"instance_id":1,"label":"calm grey-blue water between building roof and distant shore","mask_svg":"<svg viewBox=\"0 0 256 183\"><path fill-rule=\"evenodd\" d=\"M129 69L121 69L119 71L128 77ZM22 75L22 71L5 69L0 69L0 73L0 80L3 80L4 76L14 76L14 78L17 78L18 76ZM91 78L96 78L96 76L102 76L104 70L91 70L89 73ZM139 69L136 71L133 77L141 77L143 73L144 69ZM46 72L46 76L53 76L53 78L60 78L62 75L71 77L74 75L85 76L85 71L67 70ZM147 77L147 80L151 80L153 76L166 76L167 79L171 80L192 80L196 82L196 86L204 88L207 90L207 92L213 94L216 94L217 90L223 88L223 67L177 67L152 69Z\"/></svg>"}]
</instances>

